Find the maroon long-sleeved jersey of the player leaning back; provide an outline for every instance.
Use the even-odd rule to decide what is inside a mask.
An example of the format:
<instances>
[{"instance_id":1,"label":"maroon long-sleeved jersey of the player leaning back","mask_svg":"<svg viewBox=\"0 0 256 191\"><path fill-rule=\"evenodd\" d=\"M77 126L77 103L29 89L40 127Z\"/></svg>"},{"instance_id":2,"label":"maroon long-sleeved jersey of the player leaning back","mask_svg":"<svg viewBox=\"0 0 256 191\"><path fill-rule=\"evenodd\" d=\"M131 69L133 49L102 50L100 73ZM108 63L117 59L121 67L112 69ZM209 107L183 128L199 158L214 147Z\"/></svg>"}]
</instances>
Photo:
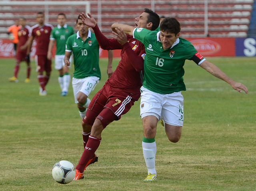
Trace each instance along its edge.
<instances>
[{"instance_id":1,"label":"maroon long-sleeved jersey of the player leaning back","mask_svg":"<svg viewBox=\"0 0 256 191\"><path fill-rule=\"evenodd\" d=\"M115 39L106 41L106 37L100 32L98 26L93 30L102 49L122 49L121 60L106 83L109 83L110 87L119 94L127 96L127 93L129 93L132 98L138 100L140 98L140 87L142 86L143 57L146 55L144 45L132 36L127 35L128 43L122 46ZM140 61L137 61L137 59L140 59Z\"/></svg>"}]
</instances>

